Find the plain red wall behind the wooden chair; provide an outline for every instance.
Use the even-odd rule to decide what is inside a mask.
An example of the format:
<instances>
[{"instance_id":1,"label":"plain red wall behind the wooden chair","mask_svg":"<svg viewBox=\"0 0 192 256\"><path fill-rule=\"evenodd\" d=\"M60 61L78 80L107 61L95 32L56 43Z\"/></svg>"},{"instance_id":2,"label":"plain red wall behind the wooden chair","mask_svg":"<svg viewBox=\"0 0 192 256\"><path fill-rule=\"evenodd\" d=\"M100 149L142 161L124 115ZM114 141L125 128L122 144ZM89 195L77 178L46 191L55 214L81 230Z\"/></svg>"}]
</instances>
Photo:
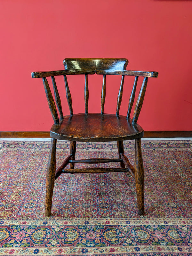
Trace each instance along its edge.
<instances>
[{"instance_id":1,"label":"plain red wall behind the wooden chair","mask_svg":"<svg viewBox=\"0 0 192 256\"><path fill-rule=\"evenodd\" d=\"M183 0L1 0L0 131L50 129L42 80L31 72L63 69L67 57L127 58L128 70L158 71L148 80L138 123L151 131L192 130L191 10L192 1ZM93 78L101 85L102 78ZM116 107L119 78L108 78L106 112ZM100 91L89 80L99 106ZM83 96L83 86L76 90ZM74 102L75 112L82 104ZM126 115L125 94L122 104Z\"/></svg>"}]
</instances>

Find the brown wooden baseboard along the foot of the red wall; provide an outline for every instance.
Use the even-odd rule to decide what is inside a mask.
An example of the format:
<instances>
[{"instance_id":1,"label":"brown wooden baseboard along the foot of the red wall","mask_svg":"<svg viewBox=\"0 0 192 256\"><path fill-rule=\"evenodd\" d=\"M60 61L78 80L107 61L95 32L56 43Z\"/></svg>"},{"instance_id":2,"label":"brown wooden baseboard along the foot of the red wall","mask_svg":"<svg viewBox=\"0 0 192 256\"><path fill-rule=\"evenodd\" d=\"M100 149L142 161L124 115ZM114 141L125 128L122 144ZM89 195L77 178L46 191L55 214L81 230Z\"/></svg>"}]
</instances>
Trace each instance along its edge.
<instances>
[{"instance_id":1,"label":"brown wooden baseboard along the foot of the red wall","mask_svg":"<svg viewBox=\"0 0 192 256\"><path fill-rule=\"evenodd\" d=\"M144 138L191 138L192 131L145 131ZM49 132L0 132L0 138L50 138Z\"/></svg>"}]
</instances>

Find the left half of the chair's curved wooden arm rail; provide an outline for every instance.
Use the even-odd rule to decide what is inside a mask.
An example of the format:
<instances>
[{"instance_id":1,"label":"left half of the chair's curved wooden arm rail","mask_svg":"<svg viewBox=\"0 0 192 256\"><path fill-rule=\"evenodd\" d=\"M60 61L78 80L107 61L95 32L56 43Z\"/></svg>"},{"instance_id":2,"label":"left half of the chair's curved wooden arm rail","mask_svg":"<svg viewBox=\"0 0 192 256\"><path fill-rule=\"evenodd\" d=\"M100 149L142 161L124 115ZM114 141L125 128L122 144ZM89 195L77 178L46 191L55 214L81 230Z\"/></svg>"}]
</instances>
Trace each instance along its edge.
<instances>
[{"instance_id":1,"label":"left half of the chair's curved wooden arm rail","mask_svg":"<svg viewBox=\"0 0 192 256\"><path fill-rule=\"evenodd\" d=\"M81 75L81 74L95 74L95 70L57 70L57 71L40 71L40 72L32 72L32 78L40 78L47 76L66 76L66 75Z\"/></svg>"}]
</instances>

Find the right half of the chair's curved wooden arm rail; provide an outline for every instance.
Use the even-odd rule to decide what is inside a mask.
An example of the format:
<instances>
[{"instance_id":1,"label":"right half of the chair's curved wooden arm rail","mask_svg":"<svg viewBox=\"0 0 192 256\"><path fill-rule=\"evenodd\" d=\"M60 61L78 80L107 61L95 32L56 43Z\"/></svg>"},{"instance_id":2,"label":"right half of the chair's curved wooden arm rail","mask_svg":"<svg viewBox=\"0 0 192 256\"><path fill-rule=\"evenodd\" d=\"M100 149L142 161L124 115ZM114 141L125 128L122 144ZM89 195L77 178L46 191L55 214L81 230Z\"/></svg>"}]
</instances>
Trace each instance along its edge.
<instances>
[{"instance_id":1,"label":"right half of the chair's curved wooden arm rail","mask_svg":"<svg viewBox=\"0 0 192 256\"><path fill-rule=\"evenodd\" d=\"M98 75L122 75L122 76L145 76L157 77L156 71L133 71L133 70L96 70Z\"/></svg>"}]
</instances>

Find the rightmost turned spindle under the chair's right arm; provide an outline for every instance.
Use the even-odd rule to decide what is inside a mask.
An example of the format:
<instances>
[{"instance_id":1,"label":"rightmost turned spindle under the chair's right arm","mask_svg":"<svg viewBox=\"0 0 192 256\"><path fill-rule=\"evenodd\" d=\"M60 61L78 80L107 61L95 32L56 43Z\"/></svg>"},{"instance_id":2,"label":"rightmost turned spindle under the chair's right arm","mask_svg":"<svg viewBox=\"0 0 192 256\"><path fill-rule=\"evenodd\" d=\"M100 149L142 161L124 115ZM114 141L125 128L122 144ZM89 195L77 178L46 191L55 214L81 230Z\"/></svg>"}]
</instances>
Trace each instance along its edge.
<instances>
[{"instance_id":1,"label":"rightmost turned spindle under the chair's right arm","mask_svg":"<svg viewBox=\"0 0 192 256\"><path fill-rule=\"evenodd\" d=\"M134 109L134 113L133 113L133 119L132 119L132 123L137 123L140 111L141 111L141 107L143 105L143 100L144 100L144 96L145 96L145 91L147 88L147 81L148 81L148 77L144 77L143 79L143 83L141 85L141 89L137 98L137 102L135 104L135 109Z\"/></svg>"}]
</instances>

